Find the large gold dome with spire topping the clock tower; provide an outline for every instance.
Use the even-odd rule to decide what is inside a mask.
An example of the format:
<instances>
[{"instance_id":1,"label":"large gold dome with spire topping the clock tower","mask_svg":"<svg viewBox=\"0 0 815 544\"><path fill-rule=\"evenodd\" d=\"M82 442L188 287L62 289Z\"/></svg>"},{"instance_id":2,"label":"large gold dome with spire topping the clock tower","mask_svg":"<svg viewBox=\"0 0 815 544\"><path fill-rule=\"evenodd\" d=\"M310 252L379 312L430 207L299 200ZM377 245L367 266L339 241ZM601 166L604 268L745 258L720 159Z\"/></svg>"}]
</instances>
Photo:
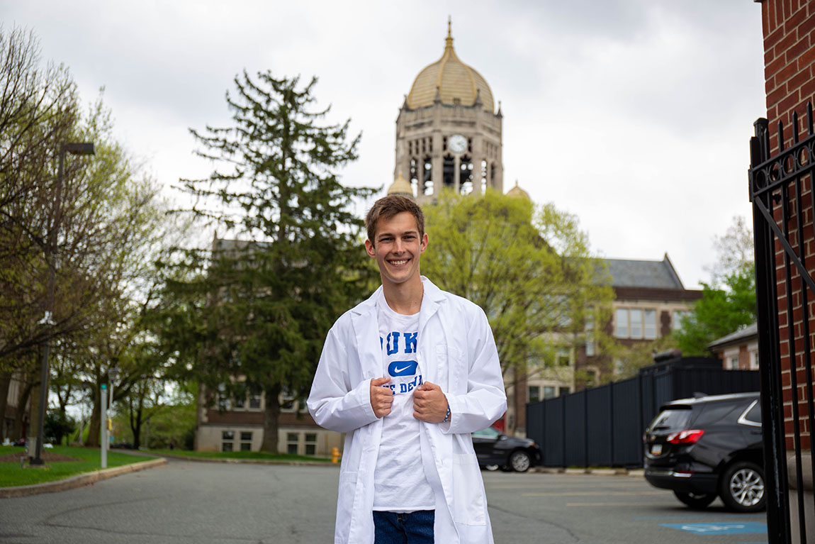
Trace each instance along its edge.
<instances>
[{"instance_id":1,"label":"large gold dome with spire topping the clock tower","mask_svg":"<svg viewBox=\"0 0 815 544\"><path fill-rule=\"evenodd\" d=\"M430 106L437 94L444 104L453 104L454 99L459 99L461 104L471 106L478 99L486 111L495 111L495 102L487 81L456 55L449 20L444 54L441 59L425 66L416 76L410 94L407 95L407 107L416 109Z\"/></svg>"}]
</instances>

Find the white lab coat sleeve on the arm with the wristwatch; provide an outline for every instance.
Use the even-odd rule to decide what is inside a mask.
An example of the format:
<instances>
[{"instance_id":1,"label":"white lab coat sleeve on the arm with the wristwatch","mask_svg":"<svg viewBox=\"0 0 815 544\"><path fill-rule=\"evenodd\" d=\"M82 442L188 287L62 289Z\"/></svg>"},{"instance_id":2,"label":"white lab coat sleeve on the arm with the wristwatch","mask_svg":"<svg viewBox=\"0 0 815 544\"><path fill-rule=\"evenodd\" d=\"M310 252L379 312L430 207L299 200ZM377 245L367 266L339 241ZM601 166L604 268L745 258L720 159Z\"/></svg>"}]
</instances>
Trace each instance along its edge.
<instances>
[{"instance_id":1,"label":"white lab coat sleeve on the arm with the wristwatch","mask_svg":"<svg viewBox=\"0 0 815 544\"><path fill-rule=\"evenodd\" d=\"M450 421L439 424L445 434L486 429L507 409L496 341L487 316L481 308L476 308L476 316L467 331L467 392L463 395L447 394Z\"/></svg>"}]
</instances>

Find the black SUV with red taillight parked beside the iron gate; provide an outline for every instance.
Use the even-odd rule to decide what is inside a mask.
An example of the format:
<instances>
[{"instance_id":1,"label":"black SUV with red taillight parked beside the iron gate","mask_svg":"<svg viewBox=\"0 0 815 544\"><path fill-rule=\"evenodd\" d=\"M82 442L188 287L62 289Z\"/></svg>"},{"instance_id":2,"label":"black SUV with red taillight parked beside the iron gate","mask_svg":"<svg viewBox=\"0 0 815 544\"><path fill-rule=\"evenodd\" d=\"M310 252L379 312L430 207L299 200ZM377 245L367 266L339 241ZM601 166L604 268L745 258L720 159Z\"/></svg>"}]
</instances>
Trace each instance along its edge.
<instances>
[{"instance_id":1,"label":"black SUV with red taillight parked beside the iron gate","mask_svg":"<svg viewBox=\"0 0 815 544\"><path fill-rule=\"evenodd\" d=\"M758 393L673 400L642 437L645 480L704 508L717 496L729 510L764 509L764 452Z\"/></svg>"}]
</instances>

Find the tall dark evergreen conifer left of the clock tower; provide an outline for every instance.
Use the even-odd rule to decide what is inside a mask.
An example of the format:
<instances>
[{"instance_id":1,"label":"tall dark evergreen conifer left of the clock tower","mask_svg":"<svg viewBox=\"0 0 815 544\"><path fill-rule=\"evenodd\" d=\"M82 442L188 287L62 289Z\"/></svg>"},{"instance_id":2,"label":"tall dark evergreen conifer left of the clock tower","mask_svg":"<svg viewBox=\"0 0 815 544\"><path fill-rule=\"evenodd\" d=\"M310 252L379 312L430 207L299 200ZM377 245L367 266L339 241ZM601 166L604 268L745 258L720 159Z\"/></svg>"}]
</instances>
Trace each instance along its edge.
<instances>
[{"instance_id":1,"label":"tall dark evergreen conifer left of the clock tower","mask_svg":"<svg viewBox=\"0 0 815 544\"><path fill-rule=\"evenodd\" d=\"M315 82L244 72L227 92L231 126L192 130L198 155L217 166L183 180L191 211L240 241L178 257L157 314L179 378L224 396L264 391L271 452L281 393L304 395L326 331L363 296L371 270L350 205L372 190L338 179L359 135L348 139L348 122L320 124L328 109L314 111Z\"/></svg>"}]
</instances>

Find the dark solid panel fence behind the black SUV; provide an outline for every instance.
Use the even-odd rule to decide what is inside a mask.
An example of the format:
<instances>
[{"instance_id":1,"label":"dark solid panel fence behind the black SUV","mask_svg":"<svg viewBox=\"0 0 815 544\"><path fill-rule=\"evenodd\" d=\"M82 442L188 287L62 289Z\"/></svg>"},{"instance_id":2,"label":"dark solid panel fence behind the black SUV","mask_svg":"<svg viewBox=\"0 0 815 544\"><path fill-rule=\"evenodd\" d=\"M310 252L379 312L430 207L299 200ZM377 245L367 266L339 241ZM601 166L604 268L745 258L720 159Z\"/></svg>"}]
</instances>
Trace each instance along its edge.
<instances>
[{"instance_id":1,"label":"dark solid panel fence behind the black SUV","mask_svg":"<svg viewBox=\"0 0 815 544\"><path fill-rule=\"evenodd\" d=\"M544 467L641 467L642 432L669 400L759 390L757 370L720 361L653 365L636 378L526 405L526 436Z\"/></svg>"}]
</instances>

